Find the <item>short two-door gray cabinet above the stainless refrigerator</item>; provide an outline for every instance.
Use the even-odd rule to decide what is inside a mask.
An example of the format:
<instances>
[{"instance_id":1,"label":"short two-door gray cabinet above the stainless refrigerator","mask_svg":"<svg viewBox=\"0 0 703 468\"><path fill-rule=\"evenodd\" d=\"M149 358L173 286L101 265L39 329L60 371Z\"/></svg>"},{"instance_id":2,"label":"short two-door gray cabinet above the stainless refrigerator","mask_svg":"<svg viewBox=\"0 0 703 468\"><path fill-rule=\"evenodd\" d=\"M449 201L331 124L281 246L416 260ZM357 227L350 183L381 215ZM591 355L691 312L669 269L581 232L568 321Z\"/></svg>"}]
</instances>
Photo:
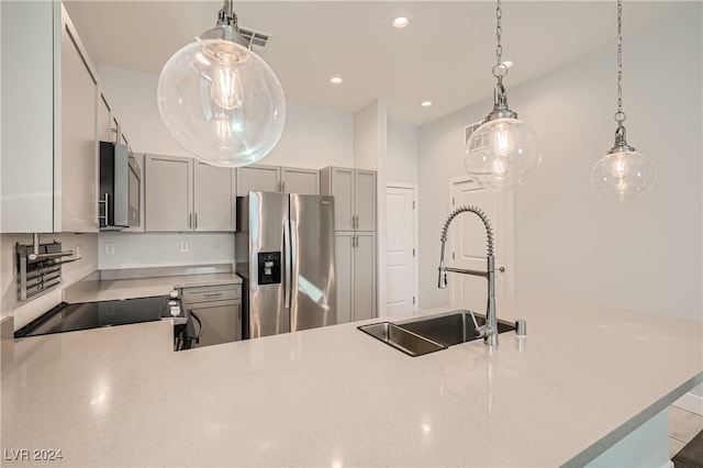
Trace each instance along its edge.
<instances>
[{"instance_id":1,"label":"short two-door gray cabinet above the stainless refrigerator","mask_svg":"<svg viewBox=\"0 0 703 468\"><path fill-rule=\"evenodd\" d=\"M250 191L320 194L320 171L260 164L237 168L237 196Z\"/></svg>"}]
</instances>

